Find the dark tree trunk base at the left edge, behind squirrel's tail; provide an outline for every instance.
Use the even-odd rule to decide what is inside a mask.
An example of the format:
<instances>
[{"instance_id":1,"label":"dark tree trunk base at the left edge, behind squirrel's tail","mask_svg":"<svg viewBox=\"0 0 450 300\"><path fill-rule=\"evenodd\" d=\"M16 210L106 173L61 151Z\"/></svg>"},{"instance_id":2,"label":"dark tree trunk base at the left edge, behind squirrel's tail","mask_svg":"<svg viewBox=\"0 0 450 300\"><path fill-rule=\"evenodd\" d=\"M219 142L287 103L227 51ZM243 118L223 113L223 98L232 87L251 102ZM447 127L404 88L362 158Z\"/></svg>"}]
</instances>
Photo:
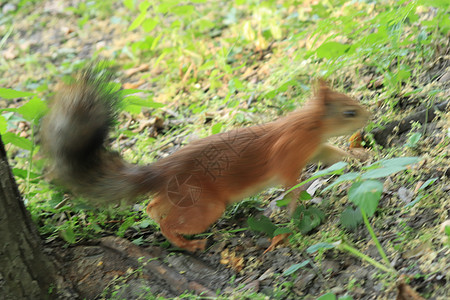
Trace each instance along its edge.
<instances>
[{"instance_id":1,"label":"dark tree trunk base at the left edge, behind squirrel's tail","mask_svg":"<svg viewBox=\"0 0 450 300\"><path fill-rule=\"evenodd\" d=\"M43 253L0 137L0 298L54 298L50 288L55 278L55 267Z\"/></svg>"}]
</instances>

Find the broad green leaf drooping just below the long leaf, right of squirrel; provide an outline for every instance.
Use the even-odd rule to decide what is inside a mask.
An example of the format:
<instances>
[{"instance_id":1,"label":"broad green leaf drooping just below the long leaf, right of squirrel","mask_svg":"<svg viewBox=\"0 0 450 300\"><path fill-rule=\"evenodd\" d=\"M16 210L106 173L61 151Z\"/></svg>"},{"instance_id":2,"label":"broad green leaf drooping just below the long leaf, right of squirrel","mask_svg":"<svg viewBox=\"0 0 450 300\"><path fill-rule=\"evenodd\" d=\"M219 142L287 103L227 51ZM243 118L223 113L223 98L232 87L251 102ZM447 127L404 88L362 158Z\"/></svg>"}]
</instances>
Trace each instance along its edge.
<instances>
[{"instance_id":1,"label":"broad green leaf drooping just below the long leaf, right of squirrel","mask_svg":"<svg viewBox=\"0 0 450 300\"><path fill-rule=\"evenodd\" d=\"M348 191L348 199L370 217L375 213L382 193L383 183L377 180L363 180L352 184Z\"/></svg>"}]
</instances>

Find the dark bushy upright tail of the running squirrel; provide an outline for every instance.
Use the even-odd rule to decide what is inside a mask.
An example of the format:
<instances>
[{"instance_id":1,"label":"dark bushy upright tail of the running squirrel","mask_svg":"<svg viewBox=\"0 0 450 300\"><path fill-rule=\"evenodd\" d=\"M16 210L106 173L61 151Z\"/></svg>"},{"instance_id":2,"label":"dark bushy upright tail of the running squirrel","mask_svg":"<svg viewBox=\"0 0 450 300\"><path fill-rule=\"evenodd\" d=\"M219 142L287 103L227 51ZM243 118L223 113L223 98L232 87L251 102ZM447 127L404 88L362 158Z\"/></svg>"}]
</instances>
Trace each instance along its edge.
<instances>
[{"instance_id":1,"label":"dark bushy upright tail of the running squirrel","mask_svg":"<svg viewBox=\"0 0 450 300\"><path fill-rule=\"evenodd\" d=\"M91 199L132 202L158 190L163 176L153 165L129 164L105 148L121 101L110 79L97 64L59 87L42 122L41 143L57 182Z\"/></svg>"}]
</instances>

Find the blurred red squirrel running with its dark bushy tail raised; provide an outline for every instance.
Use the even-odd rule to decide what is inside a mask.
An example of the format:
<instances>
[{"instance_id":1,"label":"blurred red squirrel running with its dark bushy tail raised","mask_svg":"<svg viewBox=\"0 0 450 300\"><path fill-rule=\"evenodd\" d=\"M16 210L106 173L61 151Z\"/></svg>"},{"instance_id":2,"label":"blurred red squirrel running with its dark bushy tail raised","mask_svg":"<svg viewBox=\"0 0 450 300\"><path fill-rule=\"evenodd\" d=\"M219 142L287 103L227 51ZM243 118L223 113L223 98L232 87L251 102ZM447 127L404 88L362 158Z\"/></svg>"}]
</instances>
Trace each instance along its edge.
<instances>
[{"instance_id":1,"label":"blurred red squirrel running with its dark bushy tail raised","mask_svg":"<svg viewBox=\"0 0 450 300\"><path fill-rule=\"evenodd\" d=\"M90 66L57 88L40 130L52 175L97 202L132 203L153 195L148 215L173 245L190 252L204 250L206 239L184 235L207 230L228 205L270 186L292 187L307 163L348 156L327 139L353 133L369 117L357 101L319 80L312 99L297 111L190 142L140 166L105 146L121 101L111 78Z\"/></svg>"}]
</instances>

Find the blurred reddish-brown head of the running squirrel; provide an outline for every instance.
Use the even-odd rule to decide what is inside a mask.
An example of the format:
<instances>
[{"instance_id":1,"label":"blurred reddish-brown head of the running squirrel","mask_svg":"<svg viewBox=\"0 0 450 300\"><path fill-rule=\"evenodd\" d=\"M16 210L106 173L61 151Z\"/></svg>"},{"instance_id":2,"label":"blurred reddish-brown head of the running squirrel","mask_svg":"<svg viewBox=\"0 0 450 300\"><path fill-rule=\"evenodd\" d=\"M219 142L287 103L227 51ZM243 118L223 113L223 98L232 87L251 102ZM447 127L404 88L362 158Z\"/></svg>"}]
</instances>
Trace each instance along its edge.
<instances>
[{"instance_id":1,"label":"blurred reddish-brown head of the running squirrel","mask_svg":"<svg viewBox=\"0 0 450 300\"><path fill-rule=\"evenodd\" d=\"M332 90L323 79L318 81L313 102L322 109L325 138L354 133L369 119L369 112L358 101Z\"/></svg>"}]
</instances>

